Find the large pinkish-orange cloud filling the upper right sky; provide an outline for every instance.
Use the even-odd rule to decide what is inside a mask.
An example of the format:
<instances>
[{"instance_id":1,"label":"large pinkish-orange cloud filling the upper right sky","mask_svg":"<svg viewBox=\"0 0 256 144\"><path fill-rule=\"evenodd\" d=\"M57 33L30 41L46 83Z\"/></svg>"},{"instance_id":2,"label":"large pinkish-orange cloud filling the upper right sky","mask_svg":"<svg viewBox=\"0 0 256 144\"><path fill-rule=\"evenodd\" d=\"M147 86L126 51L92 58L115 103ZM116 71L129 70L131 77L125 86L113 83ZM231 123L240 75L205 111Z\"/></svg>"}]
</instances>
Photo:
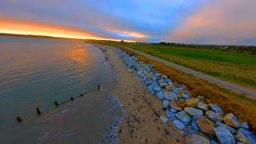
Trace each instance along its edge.
<instances>
[{"instance_id":1,"label":"large pinkish-orange cloud filling the upper right sky","mask_svg":"<svg viewBox=\"0 0 256 144\"><path fill-rule=\"evenodd\" d=\"M166 38L180 42L242 43L256 39L254 0L217 0L186 18Z\"/></svg>"}]
</instances>

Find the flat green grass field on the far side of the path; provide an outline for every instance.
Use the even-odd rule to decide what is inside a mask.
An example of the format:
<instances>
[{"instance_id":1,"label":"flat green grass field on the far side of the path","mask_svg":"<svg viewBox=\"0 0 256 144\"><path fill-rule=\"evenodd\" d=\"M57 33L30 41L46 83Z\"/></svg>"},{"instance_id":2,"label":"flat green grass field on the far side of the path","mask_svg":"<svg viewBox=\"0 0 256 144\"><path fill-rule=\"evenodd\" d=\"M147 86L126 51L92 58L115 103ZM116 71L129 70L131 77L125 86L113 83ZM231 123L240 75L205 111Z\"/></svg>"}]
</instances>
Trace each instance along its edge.
<instances>
[{"instance_id":1,"label":"flat green grass field on the far side of the path","mask_svg":"<svg viewBox=\"0 0 256 144\"><path fill-rule=\"evenodd\" d=\"M97 41L97 43L110 46L128 46L217 78L256 87L256 54L203 48L202 46L138 45L109 41Z\"/></svg>"}]
</instances>

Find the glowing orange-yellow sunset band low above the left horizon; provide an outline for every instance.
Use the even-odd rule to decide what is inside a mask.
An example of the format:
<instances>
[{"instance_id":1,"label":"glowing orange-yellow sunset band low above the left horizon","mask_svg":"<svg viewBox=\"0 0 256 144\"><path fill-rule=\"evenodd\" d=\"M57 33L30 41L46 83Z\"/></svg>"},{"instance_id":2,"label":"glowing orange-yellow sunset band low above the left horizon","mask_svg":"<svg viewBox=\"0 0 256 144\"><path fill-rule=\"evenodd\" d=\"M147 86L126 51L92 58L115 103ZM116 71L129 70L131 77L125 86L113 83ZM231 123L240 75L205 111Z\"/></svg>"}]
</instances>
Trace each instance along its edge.
<instances>
[{"instance_id":1,"label":"glowing orange-yellow sunset band low above the left horizon","mask_svg":"<svg viewBox=\"0 0 256 144\"><path fill-rule=\"evenodd\" d=\"M78 30L65 26L53 26L40 22L26 22L18 19L8 18L0 18L0 33L32 34L58 38L102 39L119 41L118 39L105 38L98 34L92 34L85 30Z\"/></svg>"}]
</instances>

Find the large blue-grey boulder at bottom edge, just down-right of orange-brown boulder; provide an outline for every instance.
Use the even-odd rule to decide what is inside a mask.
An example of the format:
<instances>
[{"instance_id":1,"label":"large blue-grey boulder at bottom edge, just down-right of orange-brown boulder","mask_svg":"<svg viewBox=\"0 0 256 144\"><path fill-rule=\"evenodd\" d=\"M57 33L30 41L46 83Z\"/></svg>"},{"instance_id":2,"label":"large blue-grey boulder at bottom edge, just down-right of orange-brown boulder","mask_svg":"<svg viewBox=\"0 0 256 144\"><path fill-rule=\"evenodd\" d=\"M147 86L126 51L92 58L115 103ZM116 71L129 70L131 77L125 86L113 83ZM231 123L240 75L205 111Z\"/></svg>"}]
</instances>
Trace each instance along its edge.
<instances>
[{"instance_id":1,"label":"large blue-grey boulder at bottom edge, just down-right of orange-brown boulder","mask_svg":"<svg viewBox=\"0 0 256 144\"><path fill-rule=\"evenodd\" d=\"M218 141L221 143L235 144L235 139L233 134L230 133L230 130L226 129L225 126L218 126L214 128L214 132L218 138Z\"/></svg>"}]
</instances>

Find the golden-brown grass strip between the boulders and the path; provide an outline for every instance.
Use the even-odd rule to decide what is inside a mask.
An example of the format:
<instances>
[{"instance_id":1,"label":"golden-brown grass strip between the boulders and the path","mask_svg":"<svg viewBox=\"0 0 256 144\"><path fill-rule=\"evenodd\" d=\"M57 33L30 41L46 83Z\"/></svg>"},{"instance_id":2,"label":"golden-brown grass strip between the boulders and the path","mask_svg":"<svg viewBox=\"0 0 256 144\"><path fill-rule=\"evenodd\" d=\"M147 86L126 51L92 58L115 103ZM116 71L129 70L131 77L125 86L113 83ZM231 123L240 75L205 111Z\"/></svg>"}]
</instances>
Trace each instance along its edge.
<instances>
[{"instance_id":1,"label":"golden-brown grass strip between the boulders and the path","mask_svg":"<svg viewBox=\"0 0 256 144\"><path fill-rule=\"evenodd\" d=\"M221 106L226 113L235 114L240 122L250 122L252 130L256 131L256 101L171 68L170 66L155 62L150 58L134 53L134 51L126 50L126 52L135 54L142 62L154 64L156 70L168 75L174 81L186 85L193 97L197 97L198 95L204 96L210 102Z\"/></svg>"}]
</instances>

